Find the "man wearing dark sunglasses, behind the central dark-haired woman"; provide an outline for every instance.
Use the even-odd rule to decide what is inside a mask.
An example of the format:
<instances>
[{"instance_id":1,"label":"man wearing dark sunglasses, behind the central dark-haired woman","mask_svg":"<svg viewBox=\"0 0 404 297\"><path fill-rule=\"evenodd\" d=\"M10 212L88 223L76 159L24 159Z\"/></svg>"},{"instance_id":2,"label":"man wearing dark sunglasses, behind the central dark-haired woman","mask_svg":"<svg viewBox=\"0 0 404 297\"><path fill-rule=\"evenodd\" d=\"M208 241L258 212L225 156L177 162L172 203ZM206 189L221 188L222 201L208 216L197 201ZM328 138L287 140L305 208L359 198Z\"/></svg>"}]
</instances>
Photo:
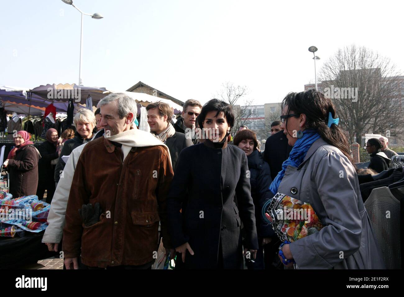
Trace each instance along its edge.
<instances>
[{"instance_id":1,"label":"man wearing dark sunglasses, behind the central dark-haired woman","mask_svg":"<svg viewBox=\"0 0 404 297\"><path fill-rule=\"evenodd\" d=\"M185 101L182 114L177 122L173 124L175 131L185 133L185 129L189 128L194 130L196 124L196 118L199 116L202 109L202 104L195 99L188 99ZM188 133L187 135L195 135L195 133ZM196 137L192 137L192 142L194 144L198 143L198 139Z\"/></svg>"}]
</instances>

